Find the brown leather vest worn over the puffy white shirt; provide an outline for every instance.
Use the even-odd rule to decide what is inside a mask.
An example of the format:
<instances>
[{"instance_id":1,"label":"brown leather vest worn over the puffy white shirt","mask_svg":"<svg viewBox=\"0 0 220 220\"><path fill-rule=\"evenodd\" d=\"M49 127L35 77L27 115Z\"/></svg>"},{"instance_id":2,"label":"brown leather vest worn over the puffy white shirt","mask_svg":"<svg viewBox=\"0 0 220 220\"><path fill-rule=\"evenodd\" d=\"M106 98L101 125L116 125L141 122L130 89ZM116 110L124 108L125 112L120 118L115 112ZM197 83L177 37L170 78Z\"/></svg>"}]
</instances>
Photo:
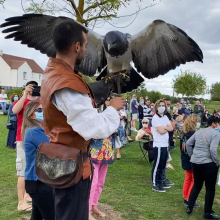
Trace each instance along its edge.
<instances>
[{"instance_id":1,"label":"brown leather vest worn over the puffy white shirt","mask_svg":"<svg viewBox=\"0 0 220 220\"><path fill-rule=\"evenodd\" d=\"M50 58L43 75L41 84L41 104L44 111L43 128L52 143L60 143L88 152L90 141L86 141L67 123L67 117L52 103L51 98L55 91L70 88L82 94L88 94L93 107L94 99L89 87L82 77L64 61ZM73 103L74 104L74 103ZM91 175L89 158L83 163L83 179Z\"/></svg>"}]
</instances>

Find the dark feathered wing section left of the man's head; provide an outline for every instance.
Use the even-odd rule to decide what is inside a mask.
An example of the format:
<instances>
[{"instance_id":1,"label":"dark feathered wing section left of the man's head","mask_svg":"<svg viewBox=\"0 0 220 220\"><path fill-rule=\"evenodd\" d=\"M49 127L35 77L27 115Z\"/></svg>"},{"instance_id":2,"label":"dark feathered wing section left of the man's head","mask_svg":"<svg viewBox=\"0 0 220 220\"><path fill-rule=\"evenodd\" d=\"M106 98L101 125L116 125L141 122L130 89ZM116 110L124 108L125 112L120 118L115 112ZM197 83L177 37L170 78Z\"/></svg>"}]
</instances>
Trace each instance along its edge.
<instances>
[{"instance_id":1,"label":"dark feathered wing section left of the man's head","mask_svg":"<svg viewBox=\"0 0 220 220\"><path fill-rule=\"evenodd\" d=\"M66 19L70 18L25 14L5 19L6 22L0 27L9 27L2 31L2 33L10 33L5 37L6 39L14 38L15 41L21 41L21 44L40 50L49 57L55 57L52 33L54 28Z\"/></svg>"}]
</instances>

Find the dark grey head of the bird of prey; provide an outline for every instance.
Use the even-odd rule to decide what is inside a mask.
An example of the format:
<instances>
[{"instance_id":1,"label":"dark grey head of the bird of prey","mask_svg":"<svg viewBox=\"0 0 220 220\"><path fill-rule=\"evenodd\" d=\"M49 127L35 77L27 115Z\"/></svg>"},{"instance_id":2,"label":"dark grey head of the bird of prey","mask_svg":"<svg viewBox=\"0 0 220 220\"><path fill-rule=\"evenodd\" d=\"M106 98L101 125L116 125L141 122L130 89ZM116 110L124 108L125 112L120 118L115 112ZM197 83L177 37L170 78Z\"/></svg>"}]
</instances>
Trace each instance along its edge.
<instances>
[{"instance_id":1,"label":"dark grey head of the bird of prey","mask_svg":"<svg viewBox=\"0 0 220 220\"><path fill-rule=\"evenodd\" d=\"M108 32L103 40L105 51L112 57L123 55L128 49L127 34L120 31Z\"/></svg>"}]
</instances>

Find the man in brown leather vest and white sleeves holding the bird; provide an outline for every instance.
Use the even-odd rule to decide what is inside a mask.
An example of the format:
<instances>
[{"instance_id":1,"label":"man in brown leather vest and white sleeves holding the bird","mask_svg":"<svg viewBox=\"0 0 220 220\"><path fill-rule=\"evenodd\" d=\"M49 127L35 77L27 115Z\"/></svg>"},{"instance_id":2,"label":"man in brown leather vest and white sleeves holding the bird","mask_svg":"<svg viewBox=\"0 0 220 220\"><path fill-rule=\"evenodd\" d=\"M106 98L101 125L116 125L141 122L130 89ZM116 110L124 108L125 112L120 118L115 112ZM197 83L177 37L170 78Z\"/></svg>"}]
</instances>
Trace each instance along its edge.
<instances>
[{"instance_id":1,"label":"man in brown leather vest and white sleeves holding the bird","mask_svg":"<svg viewBox=\"0 0 220 220\"><path fill-rule=\"evenodd\" d=\"M88 151L90 139L106 138L119 126L122 98L115 98L101 114L94 108L90 90L74 72L86 53L87 30L63 21L53 32L56 58L50 58L41 85L44 130L50 142ZM55 189L56 220L88 220L91 164L84 159L83 175L74 186Z\"/></svg>"}]
</instances>

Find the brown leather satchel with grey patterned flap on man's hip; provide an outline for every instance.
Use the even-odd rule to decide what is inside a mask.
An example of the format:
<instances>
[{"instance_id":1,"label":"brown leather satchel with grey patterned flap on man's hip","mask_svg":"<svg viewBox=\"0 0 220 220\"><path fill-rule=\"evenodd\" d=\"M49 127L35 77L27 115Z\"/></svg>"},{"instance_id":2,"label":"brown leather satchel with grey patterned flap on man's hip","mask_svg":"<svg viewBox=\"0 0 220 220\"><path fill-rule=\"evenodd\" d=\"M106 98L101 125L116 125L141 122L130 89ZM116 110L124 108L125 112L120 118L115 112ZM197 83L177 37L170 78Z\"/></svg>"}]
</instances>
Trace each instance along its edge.
<instances>
[{"instance_id":1,"label":"brown leather satchel with grey patterned flap on man's hip","mask_svg":"<svg viewBox=\"0 0 220 220\"><path fill-rule=\"evenodd\" d=\"M63 189L79 182L83 174L82 149L57 143L39 145L36 156L36 173L46 185ZM86 154L87 158L87 154Z\"/></svg>"}]
</instances>

